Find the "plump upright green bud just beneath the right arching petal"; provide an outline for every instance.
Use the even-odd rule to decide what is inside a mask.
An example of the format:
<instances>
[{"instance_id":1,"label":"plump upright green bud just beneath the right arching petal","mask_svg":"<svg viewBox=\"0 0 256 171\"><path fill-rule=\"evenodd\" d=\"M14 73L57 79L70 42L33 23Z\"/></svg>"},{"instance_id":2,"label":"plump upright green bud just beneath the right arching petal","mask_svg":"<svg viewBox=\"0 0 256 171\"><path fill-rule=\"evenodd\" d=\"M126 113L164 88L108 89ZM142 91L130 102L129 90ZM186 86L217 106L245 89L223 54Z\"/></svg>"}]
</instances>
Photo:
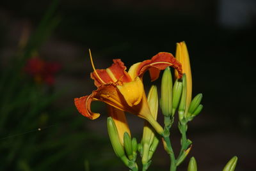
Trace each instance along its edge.
<instances>
[{"instance_id":1,"label":"plump upright green bud just beneath the right arching petal","mask_svg":"<svg viewBox=\"0 0 256 171\"><path fill-rule=\"evenodd\" d=\"M167 67L163 73L160 103L163 115L172 115L172 72L170 67Z\"/></svg>"}]
</instances>

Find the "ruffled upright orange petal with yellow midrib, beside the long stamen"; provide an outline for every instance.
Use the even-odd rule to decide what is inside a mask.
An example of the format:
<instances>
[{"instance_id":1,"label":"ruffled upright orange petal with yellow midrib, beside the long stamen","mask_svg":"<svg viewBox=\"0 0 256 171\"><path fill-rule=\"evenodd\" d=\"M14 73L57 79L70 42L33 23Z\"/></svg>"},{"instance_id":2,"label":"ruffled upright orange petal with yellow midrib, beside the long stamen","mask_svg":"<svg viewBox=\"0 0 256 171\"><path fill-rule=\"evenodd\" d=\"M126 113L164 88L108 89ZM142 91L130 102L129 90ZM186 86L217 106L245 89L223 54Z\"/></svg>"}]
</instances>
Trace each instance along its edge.
<instances>
[{"instance_id":1,"label":"ruffled upright orange petal with yellow midrib, beside the long stamen","mask_svg":"<svg viewBox=\"0 0 256 171\"><path fill-rule=\"evenodd\" d=\"M96 70L91 73L91 78L94 80L94 84L97 87L100 87L102 84L111 84L115 83L117 80L121 82L130 82L131 77L127 73L126 66L120 59L113 59L113 64L106 70ZM103 82L102 82L103 81Z\"/></svg>"}]
</instances>

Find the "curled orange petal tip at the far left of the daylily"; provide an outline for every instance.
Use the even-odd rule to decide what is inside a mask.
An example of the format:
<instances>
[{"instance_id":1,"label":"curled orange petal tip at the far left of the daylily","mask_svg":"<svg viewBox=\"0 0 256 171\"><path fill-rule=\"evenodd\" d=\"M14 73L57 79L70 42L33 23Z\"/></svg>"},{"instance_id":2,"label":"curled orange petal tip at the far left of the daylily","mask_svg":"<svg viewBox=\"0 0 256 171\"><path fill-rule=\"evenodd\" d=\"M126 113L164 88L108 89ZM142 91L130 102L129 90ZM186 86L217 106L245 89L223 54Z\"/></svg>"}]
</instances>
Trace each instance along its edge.
<instances>
[{"instance_id":1,"label":"curled orange petal tip at the far left of the daylily","mask_svg":"<svg viewBox=\"0 0 256 171\"><path fill-rule=\"evenodd\" d=\"M81 98L75 98L74 102L76 105L76 108L80 114L84 115L85 117L88 117L90 119L97 119L100 114L93 113L91 111L91 103L92 103L92 94L89 96L83 96Z\"/></svg>"}]
</instances>

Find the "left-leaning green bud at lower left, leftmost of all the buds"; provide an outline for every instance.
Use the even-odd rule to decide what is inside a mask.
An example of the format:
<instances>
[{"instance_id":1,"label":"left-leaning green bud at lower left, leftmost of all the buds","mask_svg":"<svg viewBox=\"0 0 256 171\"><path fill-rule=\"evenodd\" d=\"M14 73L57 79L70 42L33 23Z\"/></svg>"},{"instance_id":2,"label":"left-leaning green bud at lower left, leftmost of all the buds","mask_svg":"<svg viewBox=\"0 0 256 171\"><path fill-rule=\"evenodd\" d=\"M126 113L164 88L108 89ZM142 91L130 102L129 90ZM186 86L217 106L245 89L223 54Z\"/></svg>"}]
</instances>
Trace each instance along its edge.
<instances>
[{"instance_id":1,"label":"left-leaning green bud at lower left, leftmost of all the buds","mask_svg":"<svg viewBox=\"0 0 256 171\"><path fill-rule=\"evenodd\" d=\"M113 149L116 153L116 156L119 158L125 157L124 147L120 143L118 132L116 130L115 123L111 117L108 117L108 135L113 146ZM127 159L128 162L128 159Z\"/></svg>"}]
</instances>

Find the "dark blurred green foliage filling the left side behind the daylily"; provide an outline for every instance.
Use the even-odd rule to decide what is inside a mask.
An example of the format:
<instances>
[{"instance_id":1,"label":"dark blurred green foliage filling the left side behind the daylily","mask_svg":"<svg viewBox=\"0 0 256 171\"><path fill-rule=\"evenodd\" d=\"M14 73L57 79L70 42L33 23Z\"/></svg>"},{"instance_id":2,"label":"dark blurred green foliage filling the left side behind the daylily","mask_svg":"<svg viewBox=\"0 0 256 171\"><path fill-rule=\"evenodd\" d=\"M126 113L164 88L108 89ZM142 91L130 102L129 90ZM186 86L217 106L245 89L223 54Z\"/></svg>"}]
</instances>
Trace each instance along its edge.
<instances>
[{"instance_id":1,"label":"dark blurred green foliage filling the left side behind the daylily","mask_svg":"<svg viewBox=\"0 0 256 171\"><path fill-rule=\"evenodd\" d=\"M108 156L95 153L109 142L84 132L86 119L73 118L73 106L54 107L63 91L38 84L24 72L33 52L58 26L57 6L53 1L26 46L0 69L0 170L108 170L109 163L115 165Z\"/></svg>"}]
</instances>

